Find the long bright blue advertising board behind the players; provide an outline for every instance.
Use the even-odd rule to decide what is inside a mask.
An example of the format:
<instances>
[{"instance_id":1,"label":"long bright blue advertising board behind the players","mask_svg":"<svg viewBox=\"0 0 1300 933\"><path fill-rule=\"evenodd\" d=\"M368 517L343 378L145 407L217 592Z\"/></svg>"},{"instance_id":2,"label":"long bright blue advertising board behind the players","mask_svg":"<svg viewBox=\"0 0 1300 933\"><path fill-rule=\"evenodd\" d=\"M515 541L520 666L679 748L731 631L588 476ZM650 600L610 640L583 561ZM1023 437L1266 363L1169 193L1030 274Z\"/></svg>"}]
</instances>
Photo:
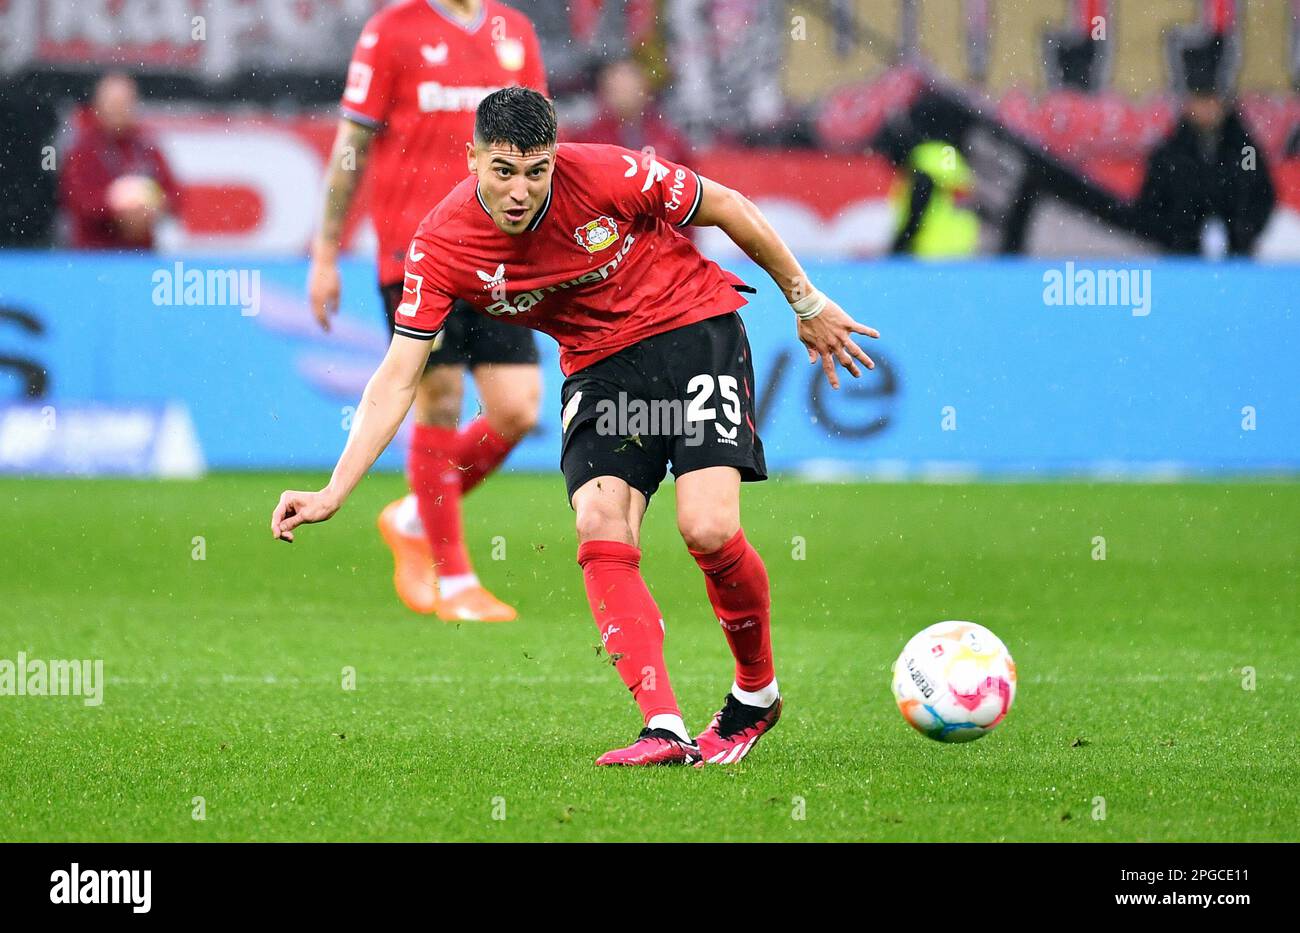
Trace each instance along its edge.
<instances>
[{"instance_id":1,"label":"long bright blue advertising board behind the players","mask_svg":"<svg viewBox=\"0 0 1300 933\"><path fill-rule=\"evenodd\" d=\"M874 373L824 385L755 266L742 311L776 470L884 477L1300 470L1300 269L983 260L812 265L858 320ZM0 403L179 404L216 469L334 463L384 353L373 266L343 264L322 333L306 264L0 253ZM542 422L512 455L559 456L562 374L538 335ZM467 411L476 402L467 390ZM381 465L402 466L400 443Z\"/></svg>"}]
</instances>

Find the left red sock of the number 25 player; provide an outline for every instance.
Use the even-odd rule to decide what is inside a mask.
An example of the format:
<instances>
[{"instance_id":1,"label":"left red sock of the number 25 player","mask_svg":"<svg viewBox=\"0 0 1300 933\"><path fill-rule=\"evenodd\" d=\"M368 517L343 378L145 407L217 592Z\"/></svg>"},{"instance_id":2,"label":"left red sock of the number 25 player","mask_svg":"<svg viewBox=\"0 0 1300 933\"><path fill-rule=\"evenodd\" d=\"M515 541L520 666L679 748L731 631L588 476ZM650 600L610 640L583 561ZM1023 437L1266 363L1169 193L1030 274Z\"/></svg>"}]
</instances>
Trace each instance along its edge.
<instances>
[{"instance_id":1,"label":"left red sock of the number 25 player","mask_svg":"<svg viewBox=\"0 0 1300 933\"><path fill-rule=\"evenodd\" d=\"M663 616L641 578L641 551L619 541L588 541L577 548L577 563L601 642L645 721L680 716L663 664Z\"/></svg>"}]
</instances>

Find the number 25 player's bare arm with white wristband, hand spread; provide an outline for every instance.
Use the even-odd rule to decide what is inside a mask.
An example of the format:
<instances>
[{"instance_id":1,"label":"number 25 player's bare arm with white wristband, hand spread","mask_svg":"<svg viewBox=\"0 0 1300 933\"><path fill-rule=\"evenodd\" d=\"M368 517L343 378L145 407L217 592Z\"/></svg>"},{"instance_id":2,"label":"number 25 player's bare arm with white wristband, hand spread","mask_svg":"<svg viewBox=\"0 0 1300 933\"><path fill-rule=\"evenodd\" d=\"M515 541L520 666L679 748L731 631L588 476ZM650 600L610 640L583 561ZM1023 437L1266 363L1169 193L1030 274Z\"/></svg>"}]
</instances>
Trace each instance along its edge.
<instances>
[{"instance_id":1,"label":"number 25 player's bare arm with white wristband, hand spread","mask_svg":"<svg viewBox=\"0 0 1300 933\"><path fill-rule=\"evenodd\" d=\"M715 226L745 251L780 287L798 318L800 340L809 351L809 363L822 360L822 369L832 389L840 387L835 361L854 378L862 374L858 363L875 369L875 363L853 339L854 334L880 337L864 324L858 324L845 311L818 291L772 225L745 195L699 177L699 207L690 217L693 226Z\"/></svg>"}]
</instances>

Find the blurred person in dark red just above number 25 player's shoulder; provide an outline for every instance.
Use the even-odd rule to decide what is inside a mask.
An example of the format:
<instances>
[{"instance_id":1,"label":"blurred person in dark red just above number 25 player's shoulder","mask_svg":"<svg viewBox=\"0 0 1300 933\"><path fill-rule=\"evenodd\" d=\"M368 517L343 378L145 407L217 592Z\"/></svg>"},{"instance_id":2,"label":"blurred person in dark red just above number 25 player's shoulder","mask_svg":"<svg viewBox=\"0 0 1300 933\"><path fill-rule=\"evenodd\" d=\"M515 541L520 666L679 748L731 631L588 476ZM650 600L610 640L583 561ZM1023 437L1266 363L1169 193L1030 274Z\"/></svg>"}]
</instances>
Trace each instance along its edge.
<instances>
[{"instance_id":1,"label":"blurred person in dark red just above number 25 player's shoulder","mask_svg":"<svg viewBox=\"0 0 1300 933\"><path fill-rule=\"evenodd\" d=\"M673 162L686 157L685 136L659 110L650 95L649 75L638 62L623 58L602 68L597 95L595 120L575 134L576 138L629 149L649 147Z\"/></svg>"}]
</instances>

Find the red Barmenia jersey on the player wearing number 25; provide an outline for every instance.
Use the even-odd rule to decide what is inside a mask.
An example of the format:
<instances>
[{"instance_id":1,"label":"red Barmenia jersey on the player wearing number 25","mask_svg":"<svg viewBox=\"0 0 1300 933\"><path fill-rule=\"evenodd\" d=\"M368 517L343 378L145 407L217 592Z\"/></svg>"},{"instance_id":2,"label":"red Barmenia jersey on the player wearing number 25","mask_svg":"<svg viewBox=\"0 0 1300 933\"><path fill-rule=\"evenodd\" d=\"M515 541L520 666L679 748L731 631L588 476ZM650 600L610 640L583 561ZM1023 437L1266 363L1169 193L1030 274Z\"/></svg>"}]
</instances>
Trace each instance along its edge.
<instances>
[{"instance_id":1,"label":"red Barmenia jersey on the player wearing number 25","mask_svg":"<svg viewBox=\"0 0 1300 933\"><path fill-rule=\"evenodd\" d=\"M699 208L697 175L619 146L560 143L528 230L502 233L460 182L407 252L396 333L432 339L454 299L550 334L568 376L666 330L745 304L738 278L673 227Z\"/></svg>"}]
</instances>

